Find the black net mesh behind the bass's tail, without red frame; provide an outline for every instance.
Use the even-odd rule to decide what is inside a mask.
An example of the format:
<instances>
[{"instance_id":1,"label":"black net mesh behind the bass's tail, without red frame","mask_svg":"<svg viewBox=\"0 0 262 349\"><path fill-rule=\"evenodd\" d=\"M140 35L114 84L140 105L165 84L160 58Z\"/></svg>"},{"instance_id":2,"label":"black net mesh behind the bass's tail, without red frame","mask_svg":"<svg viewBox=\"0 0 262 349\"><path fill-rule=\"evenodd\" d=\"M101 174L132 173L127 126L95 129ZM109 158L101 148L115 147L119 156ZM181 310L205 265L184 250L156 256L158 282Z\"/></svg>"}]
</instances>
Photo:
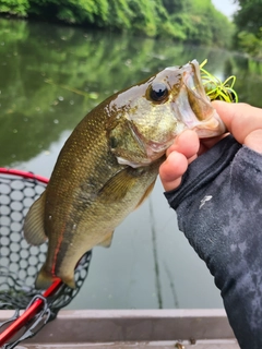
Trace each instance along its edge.
<instances>
[{"instance_id":1,"label":"black net mesh behind the bass's tail, without red frame","mask_svg":"<svg viewBox=\"0 0 262 349\"><path fill-rule=\"evenodd\" d=\"M0 173L0 310L25 309L34 296L35 277L46 260L47 243L29 245L23 238L23 221L33 202L45 190L39 178ZM49 300L56 313L76 296L88 272L91 252L75 268L75 289L62 285Z\"/></svg>"}]
</instances>

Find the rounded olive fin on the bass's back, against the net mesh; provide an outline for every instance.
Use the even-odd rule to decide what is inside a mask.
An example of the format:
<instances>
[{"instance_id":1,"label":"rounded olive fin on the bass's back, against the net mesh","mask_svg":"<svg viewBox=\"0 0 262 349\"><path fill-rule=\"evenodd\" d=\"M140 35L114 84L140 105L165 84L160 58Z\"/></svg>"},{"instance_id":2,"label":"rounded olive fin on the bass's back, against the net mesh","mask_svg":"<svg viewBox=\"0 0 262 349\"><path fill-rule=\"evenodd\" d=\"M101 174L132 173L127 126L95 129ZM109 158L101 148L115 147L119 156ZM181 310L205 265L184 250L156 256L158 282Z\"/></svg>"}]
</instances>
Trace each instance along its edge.
<instances>
[{"instance_id":1,"label":"rounded olive fin on the bass's back, against the net mesh","mask_svg":"<svg viewBox=\"0 0 262 349\"><path fill-rule=\"evenodd\" d=\"M24 238L33 244L39 245L47 240L44 229L46 192L31 206L24 221Z\"/></svg>"}]
</instances>

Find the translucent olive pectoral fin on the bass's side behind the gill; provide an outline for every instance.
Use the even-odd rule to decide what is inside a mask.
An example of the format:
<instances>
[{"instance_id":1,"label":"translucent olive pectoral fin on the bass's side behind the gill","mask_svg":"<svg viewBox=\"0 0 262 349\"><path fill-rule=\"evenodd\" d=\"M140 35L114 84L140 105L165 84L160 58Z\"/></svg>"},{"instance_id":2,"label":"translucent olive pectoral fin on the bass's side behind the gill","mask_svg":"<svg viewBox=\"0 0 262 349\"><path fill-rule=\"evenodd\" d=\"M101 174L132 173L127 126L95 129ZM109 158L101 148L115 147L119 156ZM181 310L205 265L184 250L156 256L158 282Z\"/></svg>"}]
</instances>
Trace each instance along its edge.
<instances>
[{"instance_id":1,"label":"translucent olive pectoral fin on the bass's side behind the gill","mask_svg":"<svg viewBox=\"0 0 262 349\"><path fill-rule=\"evenodd\" d=\"M138 177L130 173L129 168L121 170L110 178L99 191L99 198L104 202L121 201L138 181Z\"/></svg>"}]
</instances>

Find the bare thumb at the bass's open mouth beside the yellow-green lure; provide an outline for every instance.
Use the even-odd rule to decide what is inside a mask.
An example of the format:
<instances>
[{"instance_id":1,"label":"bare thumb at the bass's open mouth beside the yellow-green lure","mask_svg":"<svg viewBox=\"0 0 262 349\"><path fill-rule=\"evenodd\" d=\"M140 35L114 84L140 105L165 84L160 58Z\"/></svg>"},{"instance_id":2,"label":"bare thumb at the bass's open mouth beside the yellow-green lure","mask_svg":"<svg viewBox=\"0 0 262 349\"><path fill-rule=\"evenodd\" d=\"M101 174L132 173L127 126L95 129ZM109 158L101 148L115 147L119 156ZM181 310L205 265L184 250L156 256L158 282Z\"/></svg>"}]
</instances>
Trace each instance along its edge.
<instances>
[{"instance_id":1,"label":"bare thumb at the bass's open mouth beside the yellow-green lure","mask_svg":"<svg viewBox=\"0 0 262 349\"><path fill-rule=\"evenodd\" d=\"M262 153L262 109L248 104L212 103L227 130L241 144Z\"/></svg>"}]
</instances>

